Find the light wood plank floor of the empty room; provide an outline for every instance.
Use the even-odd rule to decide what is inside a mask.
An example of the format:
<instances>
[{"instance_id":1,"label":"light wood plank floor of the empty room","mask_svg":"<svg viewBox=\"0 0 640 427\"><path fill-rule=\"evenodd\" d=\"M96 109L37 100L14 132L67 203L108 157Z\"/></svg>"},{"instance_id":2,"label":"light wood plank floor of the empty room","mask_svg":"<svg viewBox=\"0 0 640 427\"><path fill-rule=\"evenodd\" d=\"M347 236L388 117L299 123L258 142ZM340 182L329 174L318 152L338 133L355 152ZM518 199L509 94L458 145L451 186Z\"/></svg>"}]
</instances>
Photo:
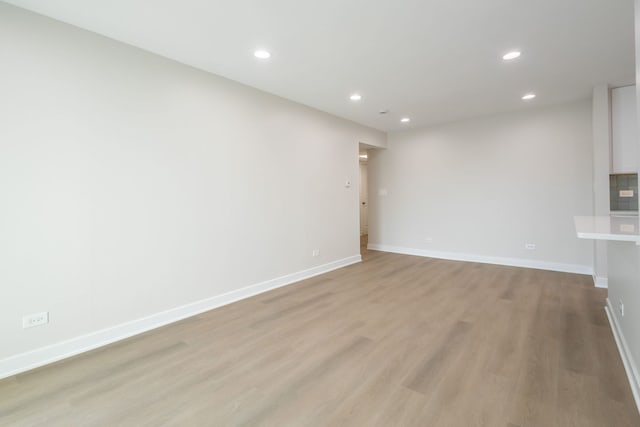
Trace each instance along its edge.
<instances>
[{"instance_id":1,"label":"light wood plank floor of the empty room","mask_svg":"<svg viewBox=\"0 0 640 427\"><path fill-rule=\"evenodd\" d=\"M606 291L380 252L0 382L0 425L640 426Z\"/></svg>"}]
</instances>

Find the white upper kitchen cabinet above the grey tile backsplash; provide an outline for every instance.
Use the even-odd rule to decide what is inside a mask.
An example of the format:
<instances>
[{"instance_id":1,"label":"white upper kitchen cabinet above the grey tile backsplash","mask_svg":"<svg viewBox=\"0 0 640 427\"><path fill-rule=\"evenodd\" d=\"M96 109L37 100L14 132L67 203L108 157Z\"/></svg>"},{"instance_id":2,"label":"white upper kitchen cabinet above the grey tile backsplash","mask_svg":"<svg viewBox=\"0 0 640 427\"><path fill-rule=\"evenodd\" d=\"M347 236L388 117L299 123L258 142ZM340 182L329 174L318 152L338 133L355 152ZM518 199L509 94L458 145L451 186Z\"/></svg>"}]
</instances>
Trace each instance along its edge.
<instances>
[{"instance_id":1,"label":"white upper kitchen cabinet above the grey tile backsplash","mask_svg":"<svg viewBox=\"0 0 640 427\"><path fill-rule=\"evenodd\" d=\"M636 87L611 90L611 159L612 173L638 171L638 118Z\"/></svg>"}]
</instances>

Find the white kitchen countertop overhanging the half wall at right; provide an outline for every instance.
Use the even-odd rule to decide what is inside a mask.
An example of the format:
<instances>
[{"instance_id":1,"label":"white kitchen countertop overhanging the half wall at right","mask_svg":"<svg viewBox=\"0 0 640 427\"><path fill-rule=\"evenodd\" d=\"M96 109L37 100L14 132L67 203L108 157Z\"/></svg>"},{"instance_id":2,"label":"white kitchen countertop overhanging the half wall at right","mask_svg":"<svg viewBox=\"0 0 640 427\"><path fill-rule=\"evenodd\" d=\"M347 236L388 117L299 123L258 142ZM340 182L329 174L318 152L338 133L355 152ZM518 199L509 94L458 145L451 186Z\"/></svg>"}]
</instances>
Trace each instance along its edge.
<instances>
[{"instance_id":1,"label":"white kitchen countertop overhanging the half wall at right","mask_svg":"<svg viewBox=\"0 0 640 427\"><path fill-rule=\"evenodd\" d=\"M573 221L581 239L635 242L640 245L637 216L574 216Z\"/></svg>"}]
</instances>

